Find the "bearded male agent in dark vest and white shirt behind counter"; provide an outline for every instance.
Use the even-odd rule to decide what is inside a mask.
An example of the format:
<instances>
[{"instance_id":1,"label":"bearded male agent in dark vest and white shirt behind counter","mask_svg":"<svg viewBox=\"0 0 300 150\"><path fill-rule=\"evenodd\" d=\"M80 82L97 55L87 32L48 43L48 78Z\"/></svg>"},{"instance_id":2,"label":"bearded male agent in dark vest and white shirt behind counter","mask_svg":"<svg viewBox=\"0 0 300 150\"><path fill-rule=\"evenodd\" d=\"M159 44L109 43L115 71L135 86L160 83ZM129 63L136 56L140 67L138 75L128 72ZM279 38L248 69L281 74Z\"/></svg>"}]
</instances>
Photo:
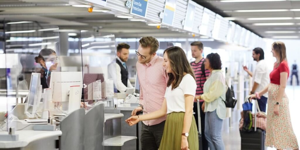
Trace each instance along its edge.
<instances>
[{"instance_id":1,"label":"bearded male agent in dark vest and white shirt behind counter","mask_svg":"<svg viewBox=\"0 0 300 150\"><path fill-rule=\"evenodd\" d=\"M124 93L128 88L133 88L129 81L128 68L125 62L129 57L130 46L126 43L120 43L117 46L117 58L109 64L108 73L114 79L117 92Z\"/></svg>"}]
</instances>

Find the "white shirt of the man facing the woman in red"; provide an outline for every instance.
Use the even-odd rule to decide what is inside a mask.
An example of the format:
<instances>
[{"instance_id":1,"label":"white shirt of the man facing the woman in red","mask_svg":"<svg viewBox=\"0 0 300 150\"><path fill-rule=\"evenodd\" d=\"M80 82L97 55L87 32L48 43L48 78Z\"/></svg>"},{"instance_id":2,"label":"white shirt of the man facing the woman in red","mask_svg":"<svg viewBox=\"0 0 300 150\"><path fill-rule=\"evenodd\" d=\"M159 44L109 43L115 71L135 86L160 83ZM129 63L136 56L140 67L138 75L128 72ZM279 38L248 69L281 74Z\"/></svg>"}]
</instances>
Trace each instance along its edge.
<instances>
[{"instance_id":1,"label":"white shirt of the man facing the woman in red","mask_svg":"<svg viewBox=\"0 0 300 150\"><path fill-rule=\"evenodd\" d=\"M260 60L256 64L256 68L253 72L253 85L254 82L258 83L258 87L255 92L263 90L270 83L270 76L268 72L268 66L264 59ZM268 92L262 95L268 98Z\"/></svg>"}]
</instances>

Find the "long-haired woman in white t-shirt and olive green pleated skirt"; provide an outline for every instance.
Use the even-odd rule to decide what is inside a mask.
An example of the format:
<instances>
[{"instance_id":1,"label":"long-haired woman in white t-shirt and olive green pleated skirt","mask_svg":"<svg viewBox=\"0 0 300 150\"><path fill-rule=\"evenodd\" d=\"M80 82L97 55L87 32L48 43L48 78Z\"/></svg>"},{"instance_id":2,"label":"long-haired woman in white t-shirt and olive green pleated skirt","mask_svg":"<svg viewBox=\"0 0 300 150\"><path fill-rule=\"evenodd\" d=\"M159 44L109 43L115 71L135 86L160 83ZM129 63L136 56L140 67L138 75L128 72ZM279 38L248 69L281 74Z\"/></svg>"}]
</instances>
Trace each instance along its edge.
<instances>
[{"instance_id":1,"label":"long-haired woman in white t-shirt and olive green pleated skirt","mask_svg":"<svg viewBox=\"0 0 300 150\"><path fill-rule=\"evenodd\" d=\"M169 75L165 99L160 110L126 120L129 125L167 114L159 150L198 150L198 132L193 116L196 81L187 57L178 46L164 51L164 67Z\"/></svg>"}]
</instances>

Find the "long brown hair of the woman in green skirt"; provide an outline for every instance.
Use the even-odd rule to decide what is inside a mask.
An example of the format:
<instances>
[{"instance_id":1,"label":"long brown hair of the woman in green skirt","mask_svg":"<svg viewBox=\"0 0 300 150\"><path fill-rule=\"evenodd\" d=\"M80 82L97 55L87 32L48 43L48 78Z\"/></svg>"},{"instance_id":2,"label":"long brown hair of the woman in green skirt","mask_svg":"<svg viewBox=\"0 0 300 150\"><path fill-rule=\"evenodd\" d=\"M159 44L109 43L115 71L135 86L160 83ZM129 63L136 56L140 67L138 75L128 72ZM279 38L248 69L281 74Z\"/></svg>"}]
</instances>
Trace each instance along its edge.
<instances>
[{"instance_id":1,"label":"long brown hair of the woman in green skirt","mask_svg":"<svg viewBox=\"0 0 300 150\"><path fill-rule=\"evenodd\" d=\"M172 69L172 73L168 73L169 80L167 83L167 87L170 87L170 85L172 85L172 90L177 88L182 81L184 72L192 75L195 79L194 71L190 67L190 63L187 61L187 56L185 55L182 48L173 46L167 48L164 53L167 53Z\"/></svg>"}]
</instances>

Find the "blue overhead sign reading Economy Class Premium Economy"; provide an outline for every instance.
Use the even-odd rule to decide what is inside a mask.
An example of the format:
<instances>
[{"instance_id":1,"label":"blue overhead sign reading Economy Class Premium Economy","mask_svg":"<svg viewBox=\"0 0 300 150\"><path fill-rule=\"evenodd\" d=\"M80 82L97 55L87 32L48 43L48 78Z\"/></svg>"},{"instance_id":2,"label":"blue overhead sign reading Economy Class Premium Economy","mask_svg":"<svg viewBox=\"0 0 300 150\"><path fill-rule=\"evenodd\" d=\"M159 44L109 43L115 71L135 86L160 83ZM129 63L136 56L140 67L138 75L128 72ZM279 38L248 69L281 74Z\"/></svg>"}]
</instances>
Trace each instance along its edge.
<instances>
[{"instance_id":1,"label":"blue overhead sign reading Economy Class Premium Economy","mask_svg":"<svg viewBox=\"0 0 300 150\"><path fill-rule=\"evenodd\" d=\"M147 7L148 0L133 0L130 13L146 17Z\"/></svg>"}]
</instances>

